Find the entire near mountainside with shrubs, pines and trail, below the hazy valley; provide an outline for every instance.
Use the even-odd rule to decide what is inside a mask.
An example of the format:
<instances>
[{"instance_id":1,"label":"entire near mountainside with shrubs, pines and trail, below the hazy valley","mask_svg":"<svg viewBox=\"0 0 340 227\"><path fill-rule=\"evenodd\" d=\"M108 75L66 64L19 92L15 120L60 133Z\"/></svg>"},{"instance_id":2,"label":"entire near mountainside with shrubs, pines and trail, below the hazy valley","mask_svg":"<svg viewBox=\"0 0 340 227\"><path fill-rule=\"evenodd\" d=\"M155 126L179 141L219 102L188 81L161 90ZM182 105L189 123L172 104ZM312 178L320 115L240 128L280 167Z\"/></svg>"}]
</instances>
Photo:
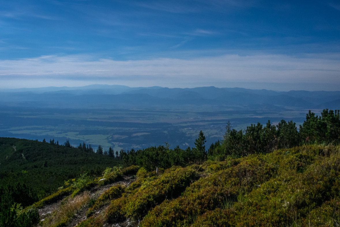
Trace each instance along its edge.
<instances>
[{"instance_id":1,"label":"entire near mountainside with shrubs, pines and trail, below the hazy valley","mask_svg":"<svg viewBox=\"0 0 340 227\"><path fill-rule=\"evenodd\" d=\"M227 124L209 148L200 132L186 150L149 147L118 159L85 145L2 138L1 225L338 226L339 129L339 110L309 111L299 130L286 121L239 131ZM63 187L37 202L39 179L44 193L57 187L46 177Z\"/></svg>"}]
</instances>

